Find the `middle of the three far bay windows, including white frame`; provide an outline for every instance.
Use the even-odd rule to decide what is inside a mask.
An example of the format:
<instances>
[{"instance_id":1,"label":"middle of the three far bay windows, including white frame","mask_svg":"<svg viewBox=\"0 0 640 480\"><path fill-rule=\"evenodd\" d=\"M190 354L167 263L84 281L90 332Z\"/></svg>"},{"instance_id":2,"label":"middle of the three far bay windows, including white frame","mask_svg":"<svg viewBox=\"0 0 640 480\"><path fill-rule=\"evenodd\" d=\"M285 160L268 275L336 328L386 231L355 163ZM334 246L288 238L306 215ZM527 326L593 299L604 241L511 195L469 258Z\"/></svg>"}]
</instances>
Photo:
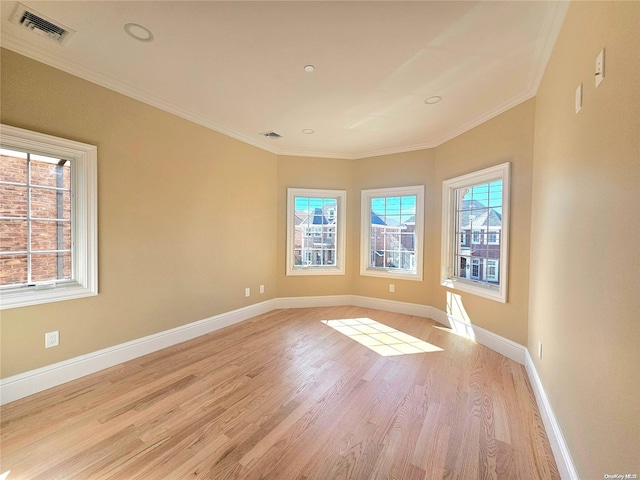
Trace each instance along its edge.
<instances>
[{"instance_id":1,"label":"middle of the three far bay windows, including white frame","mask_svg":"<svg viewBox=\"0 0 640 480\"><path fill-rule=\"evenodd\" d=\"M360 274L422 280L424 186L362 191Z\"/></svg>"}]
</instances>

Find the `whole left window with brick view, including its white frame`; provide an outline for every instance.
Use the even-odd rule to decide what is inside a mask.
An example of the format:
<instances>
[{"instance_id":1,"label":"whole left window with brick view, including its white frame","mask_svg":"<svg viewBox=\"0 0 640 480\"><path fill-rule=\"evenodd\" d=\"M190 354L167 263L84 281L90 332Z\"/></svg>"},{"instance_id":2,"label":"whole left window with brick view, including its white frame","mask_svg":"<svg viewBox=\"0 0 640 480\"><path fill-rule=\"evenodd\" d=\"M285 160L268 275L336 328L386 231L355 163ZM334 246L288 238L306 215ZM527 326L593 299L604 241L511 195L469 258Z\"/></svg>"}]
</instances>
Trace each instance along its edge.
<instances>
[{"instance_id":1,"label":"whole left window with brick view, including its white frame","mask_svg":"<svg viewBox=\"0 0 640 480\"><path fill-rule=\"evenodd\" d=\"M2 308L97 295L96 147L0 128Z\"/></svg>"}]
</instances>

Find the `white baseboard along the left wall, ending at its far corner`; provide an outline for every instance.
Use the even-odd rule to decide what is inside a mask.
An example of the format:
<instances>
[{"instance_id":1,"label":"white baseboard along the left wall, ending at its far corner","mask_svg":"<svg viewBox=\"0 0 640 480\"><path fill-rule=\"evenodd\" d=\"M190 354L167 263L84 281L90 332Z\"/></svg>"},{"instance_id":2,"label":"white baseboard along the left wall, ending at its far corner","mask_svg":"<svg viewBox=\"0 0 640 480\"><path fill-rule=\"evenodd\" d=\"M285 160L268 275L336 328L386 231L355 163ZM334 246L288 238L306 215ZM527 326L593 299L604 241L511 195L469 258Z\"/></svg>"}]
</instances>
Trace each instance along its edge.
<instances>
[{"instance_id":1,"label":"white baseboard along the left wall, ending at its far corner","mask_svg":"<svg viewBox=\"0 0 640 480\"><path fill-rule=\"evenodd\" d=\"M62 385L71 380L99 372L105 368L113 367L177 343L191 340L257 315L262 315L273 310L275 308L274 304L274 300L267 300L13 377L7 377L0 381L0 405Z\"/></svg>"}]
</instances>

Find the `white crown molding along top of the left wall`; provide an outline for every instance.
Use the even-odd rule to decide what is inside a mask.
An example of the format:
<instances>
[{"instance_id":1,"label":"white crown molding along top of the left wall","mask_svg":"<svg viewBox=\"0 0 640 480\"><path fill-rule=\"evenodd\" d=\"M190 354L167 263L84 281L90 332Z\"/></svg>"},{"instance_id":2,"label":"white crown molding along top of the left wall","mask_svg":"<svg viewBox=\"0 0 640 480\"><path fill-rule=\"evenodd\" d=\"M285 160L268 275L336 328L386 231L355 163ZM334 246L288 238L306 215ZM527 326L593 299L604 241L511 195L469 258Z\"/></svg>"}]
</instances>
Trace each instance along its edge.
<instances>
[{"instance_id":1,"label":"white crown molding along top of the left wall","mask_svg":"<svg viewBox=\"0 0 640 480\"><path fill-rule=\"evenodd\" d=\"M88 69L77 62L71 61L62 56L51 55L51 53L47 50L38 47L37 45L25 42L24 40L9 32L2 32L2 35L0 37L0 46L19 53L20 55L29 57L33 60L37 60L38 62L49 65L50 67L57 68L58 70L62 70L63 72L70 73L71 75L75 75L76 77L108 88L109 90L113 90L114 92L121 93L122 95L133 98L135 100L139 100L140 102L151 105L152 107L156 107L160 110L164 110L165 112L172 113L174 115L177 115L178 117L184 118L185 120L189 120L190 122L197 123L198 125L209 128L210 130L214 130L228 137L235 138L236 140L239 140L243 143L247 143L271 153L278 153L278 149L273 145L269 145L265 142L259 141L258 139L248 137L227 127L219 125L201 115L190 112L171 102L167 102L166 100L156 97L155 95L150 95L124 82L114 80L92 69Z\"/></svg>"}]
</instances>

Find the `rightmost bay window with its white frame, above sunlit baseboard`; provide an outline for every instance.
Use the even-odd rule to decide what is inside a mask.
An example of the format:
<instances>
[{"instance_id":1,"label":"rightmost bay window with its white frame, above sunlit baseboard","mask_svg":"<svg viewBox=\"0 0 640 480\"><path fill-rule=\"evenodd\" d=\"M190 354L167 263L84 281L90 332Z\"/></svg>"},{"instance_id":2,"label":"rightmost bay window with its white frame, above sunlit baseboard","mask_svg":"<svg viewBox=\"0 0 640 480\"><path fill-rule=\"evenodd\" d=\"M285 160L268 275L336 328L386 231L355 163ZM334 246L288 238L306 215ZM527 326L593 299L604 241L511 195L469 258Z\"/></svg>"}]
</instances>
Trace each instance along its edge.
<instances>
[{"instance_id":1,"label":"rightmost bay window with its white frame, above sunlit baseboard","mask_svg":"<svg viewBox=\"0 0 640 480\"><path fill-rule=\"evenodd\" d=\"M509 184L509 163L443 182L442 285L507 301Z\"/></svg>"}]
</instances>

